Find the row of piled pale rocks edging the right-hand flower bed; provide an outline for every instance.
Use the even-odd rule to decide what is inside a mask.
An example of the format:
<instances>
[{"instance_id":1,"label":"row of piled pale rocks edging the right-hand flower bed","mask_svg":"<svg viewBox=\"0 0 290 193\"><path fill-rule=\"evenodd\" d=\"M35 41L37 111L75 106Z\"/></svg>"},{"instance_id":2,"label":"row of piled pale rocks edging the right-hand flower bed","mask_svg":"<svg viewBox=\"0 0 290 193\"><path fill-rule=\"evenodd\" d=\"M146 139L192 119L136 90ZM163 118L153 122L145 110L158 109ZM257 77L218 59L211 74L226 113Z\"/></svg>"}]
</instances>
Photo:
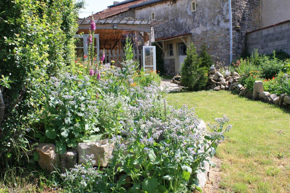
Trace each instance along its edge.
<instances>
[{"instance_id":1,"label":"row of piled pale rocks edging the right-hand flower bed","mask_svg":"<svg viewBox=\"0 0 290 193\"><path fill-rule=\"evenodd\" d=\"M255 81L253 92L249 91L242 84L239 84L240 75L236 72L226 71L225 76L218 72L214 65L209 69L208 89L215 91L228 90L236 91L240 96L244 96L253 100L261 100L269 104L278 106L290 107L290 96L281 94L279 97L276 94L271 94L264 91L263 82Z\"/></svg>"}]
</instances>

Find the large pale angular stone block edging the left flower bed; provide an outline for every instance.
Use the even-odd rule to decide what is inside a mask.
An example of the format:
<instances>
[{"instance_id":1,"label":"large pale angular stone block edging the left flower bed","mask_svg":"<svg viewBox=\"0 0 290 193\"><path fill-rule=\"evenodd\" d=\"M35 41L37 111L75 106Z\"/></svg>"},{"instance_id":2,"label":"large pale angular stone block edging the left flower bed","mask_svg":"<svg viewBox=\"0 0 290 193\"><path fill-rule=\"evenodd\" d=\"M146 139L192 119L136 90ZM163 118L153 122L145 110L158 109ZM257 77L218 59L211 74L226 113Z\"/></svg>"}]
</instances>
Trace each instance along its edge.
<instances>
[{"instance_id":1,"label":"large pale angular stone block edging the left flower bed","mask_svg":"<svg viewBox=\"0 0 290 193\"><path fill-rule=\"evenodd\" d=\"M114 148L114 143L112 140L103 139L97 142L91 143L79 143L78 152L79 152L79 164L85 163L86 155L94 155L94 160L96 161L95 166L99 165L101 167L107 167L109 163L109 158L112 155Z\"/></svg>"}]
</instances>

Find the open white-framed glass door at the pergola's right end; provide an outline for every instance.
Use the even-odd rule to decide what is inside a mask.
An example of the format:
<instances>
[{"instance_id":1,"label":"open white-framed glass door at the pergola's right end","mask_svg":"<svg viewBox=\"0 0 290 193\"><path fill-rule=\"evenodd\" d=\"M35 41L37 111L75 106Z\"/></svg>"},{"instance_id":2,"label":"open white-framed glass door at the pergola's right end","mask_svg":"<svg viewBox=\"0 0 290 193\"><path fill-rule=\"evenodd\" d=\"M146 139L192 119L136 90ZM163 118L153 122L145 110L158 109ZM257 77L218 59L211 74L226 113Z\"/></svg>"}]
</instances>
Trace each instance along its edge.
<instances>
[{"instance_id":1,"label":"open white-framed glass door at the pergola's right end","mask_svg":"<svg viewBox=\"0 0 290 193\"><path fill-rule=\"evenodd\" d=\"M143 69L156 71L156 47L143 46Z\"/></svg>"}]
</instances>

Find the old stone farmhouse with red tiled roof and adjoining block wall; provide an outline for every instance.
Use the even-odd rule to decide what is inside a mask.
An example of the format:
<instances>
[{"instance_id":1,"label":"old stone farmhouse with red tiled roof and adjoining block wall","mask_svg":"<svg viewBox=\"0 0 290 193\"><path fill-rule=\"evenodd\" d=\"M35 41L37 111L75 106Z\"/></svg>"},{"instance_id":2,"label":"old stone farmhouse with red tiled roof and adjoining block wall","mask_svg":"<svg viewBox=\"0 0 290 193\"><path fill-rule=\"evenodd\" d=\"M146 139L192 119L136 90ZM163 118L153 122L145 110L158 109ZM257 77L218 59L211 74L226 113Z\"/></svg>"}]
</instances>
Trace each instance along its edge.
<instances>
[{"instance_id":1,"label":"old stone farmhouse with red tiled roof and adjoining block wall","mask_svg":"<svg viewBox=\"0 0 290 193\"><path fill-rule=\"evenodd\" d=\"M190 43L194 43L197 50L205 46L210 55L218 56L226 64L230 63L231 53L234 59L256 48L261 53L274 49L290 53L289 8L290 0L231 0L230 17L229 0L126 0L115 1L94 18L160 21L151 26L154 36L134 34L138 38L145 37L144 44L150 36L150 41L163 50L166 73L176 74ZM119 40L124 39L125 31L118 32ZM118 45L121 47L121 41Z\"/></svg>"}]
</instances>

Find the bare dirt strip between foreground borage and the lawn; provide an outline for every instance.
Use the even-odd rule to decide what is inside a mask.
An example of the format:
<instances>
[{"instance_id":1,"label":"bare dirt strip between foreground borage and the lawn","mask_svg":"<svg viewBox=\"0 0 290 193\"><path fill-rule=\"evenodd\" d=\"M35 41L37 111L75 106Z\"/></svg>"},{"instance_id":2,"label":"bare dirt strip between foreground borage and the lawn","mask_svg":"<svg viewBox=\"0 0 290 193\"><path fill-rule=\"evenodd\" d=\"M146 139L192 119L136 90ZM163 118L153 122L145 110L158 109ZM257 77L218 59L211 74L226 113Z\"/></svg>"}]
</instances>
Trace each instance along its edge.
<instances>
[{"instance_id":1,"label":"bare dirt strip between foreground borage and the lawn","mask_svg":"<svg viewBox=\"0 0 290 193\"><path fill-rule=\"evenodd\" d=\"M206 182L206 185L202 190L203 193L217 193L219 190L221 180L221 161L217 157L213 157L212 162L217 166L209 170L209 180Z\"/></svg>"}]
</instances>

